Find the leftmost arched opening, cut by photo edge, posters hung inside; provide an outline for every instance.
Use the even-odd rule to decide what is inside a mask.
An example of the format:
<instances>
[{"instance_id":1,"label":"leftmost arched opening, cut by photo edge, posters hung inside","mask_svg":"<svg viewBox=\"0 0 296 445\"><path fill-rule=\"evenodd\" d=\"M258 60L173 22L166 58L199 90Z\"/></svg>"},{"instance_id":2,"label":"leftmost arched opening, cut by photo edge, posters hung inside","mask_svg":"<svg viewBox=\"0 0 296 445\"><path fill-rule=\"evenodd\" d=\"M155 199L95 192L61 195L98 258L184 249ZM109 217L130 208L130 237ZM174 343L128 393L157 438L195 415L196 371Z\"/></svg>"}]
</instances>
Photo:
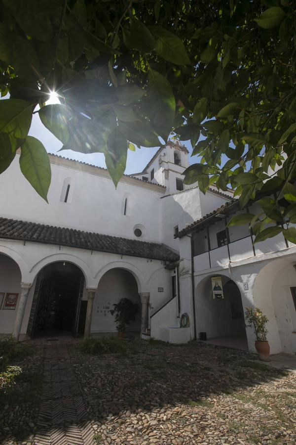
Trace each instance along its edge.
<instances>
[{"instance_id":1,"label":"leftmost arched opening, cut by photo edge, posters hung inside","mask_svg":"<svg viewBox=\"0 0 296 445\"><path fill-rule=\"evenodd\" d=\"M11 334L21 294L21 271L17 263L0 254L0 334Z\"/></svg>"}]
</instances>

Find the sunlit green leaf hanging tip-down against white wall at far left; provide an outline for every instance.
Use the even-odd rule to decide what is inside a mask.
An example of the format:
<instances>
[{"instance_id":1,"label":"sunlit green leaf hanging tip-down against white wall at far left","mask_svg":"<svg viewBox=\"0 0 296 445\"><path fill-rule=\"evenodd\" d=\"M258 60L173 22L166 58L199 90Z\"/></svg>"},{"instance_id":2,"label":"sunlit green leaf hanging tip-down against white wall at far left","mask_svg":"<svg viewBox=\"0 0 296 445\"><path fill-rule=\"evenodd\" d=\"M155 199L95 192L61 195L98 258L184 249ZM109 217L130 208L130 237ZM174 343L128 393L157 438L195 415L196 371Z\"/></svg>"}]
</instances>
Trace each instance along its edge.
<instances>
[{"instance_id":1,"label":"sunlit green leaf hanging tip-down against white wall at far left","mask_svg":"<svg viewBox=\"0 0 296 445\"><path fill-rule=\"evenodd\" d=\"M28 136L21 147L20 168L24 177L37 193L47 201L51 180L50 162L42 143L36 137Z\"/></svg>"}]
</instances>

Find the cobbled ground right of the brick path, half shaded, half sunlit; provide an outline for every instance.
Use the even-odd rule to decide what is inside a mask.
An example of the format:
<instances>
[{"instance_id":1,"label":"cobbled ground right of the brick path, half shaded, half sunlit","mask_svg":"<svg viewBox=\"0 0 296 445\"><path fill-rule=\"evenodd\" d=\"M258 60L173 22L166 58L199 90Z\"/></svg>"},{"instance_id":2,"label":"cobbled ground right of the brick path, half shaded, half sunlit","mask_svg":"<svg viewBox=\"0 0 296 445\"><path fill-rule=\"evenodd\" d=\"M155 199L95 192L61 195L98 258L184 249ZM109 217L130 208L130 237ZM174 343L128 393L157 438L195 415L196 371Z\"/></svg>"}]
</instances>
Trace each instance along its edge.
<instances>
[{"instance_id":1,"label":"cobbled ground right of the brick path, half shaded, half sunlit","mask_svg":"<svg viewBox=\"0 0 296 445\"><path fill-rule=\"evenodd\" d=\"M295 444L296 375L203 343L131 342L74 371L98 444Z\"/></svg>"}]
</instances>

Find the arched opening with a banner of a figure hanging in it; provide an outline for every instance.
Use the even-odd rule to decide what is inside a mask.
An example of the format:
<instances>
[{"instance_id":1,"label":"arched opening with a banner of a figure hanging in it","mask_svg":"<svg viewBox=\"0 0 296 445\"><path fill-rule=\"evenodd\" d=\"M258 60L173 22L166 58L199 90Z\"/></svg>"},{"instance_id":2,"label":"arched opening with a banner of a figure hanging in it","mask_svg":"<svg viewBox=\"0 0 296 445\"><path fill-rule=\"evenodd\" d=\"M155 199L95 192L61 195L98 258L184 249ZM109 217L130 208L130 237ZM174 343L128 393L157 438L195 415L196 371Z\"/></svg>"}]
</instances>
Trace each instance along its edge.
<instances>
[{"instance_id":1,"label":"arched opening with a banner of a figure hanging in it","mask_svg":"<svg viewBox=\"0 0 296 445\"><path fill-rule=\"evenodd\" d=\"M196 332L201 340L248 350L244 310L237 284L224 275L205 277L195 290Z\"/></svg>"}]
</instances>

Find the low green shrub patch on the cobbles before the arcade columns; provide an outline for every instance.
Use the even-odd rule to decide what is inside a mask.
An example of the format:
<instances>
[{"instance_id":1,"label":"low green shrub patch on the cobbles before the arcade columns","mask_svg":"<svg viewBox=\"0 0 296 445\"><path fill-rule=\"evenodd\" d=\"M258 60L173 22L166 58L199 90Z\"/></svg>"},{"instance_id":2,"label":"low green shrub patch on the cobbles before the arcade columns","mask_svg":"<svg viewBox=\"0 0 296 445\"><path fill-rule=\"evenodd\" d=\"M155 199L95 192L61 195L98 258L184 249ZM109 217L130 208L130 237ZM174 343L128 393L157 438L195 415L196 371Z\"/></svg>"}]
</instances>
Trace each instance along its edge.
<instances>
[{"instance_id":1,"label":"low green shrub patch on the cobbles before the arcade columns","mask_svg":"<svg viewBox=\"0 0 296 445\"><path fill-rule=\"evenodd\" d=\"M79 345L80 351L91 355L125 354L129 352L129 346L124 340L117 337L85 338Z\"/></svg>"}]
</instances>

